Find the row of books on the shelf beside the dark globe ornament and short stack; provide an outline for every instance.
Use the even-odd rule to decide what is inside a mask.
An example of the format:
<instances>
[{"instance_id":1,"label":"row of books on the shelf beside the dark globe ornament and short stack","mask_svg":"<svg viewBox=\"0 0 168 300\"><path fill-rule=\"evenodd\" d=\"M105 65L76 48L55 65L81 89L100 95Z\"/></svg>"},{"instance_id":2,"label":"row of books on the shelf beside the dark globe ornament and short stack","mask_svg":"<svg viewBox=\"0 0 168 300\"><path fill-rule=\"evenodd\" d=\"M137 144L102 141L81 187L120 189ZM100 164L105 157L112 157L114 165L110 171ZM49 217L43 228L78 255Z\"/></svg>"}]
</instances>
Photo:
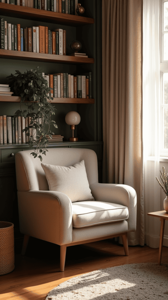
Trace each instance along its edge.
<instances>
[{"instance_id":1,"label":"row of books on the shelf beside the dark globe ornament and short stack","mask_svg":"<svg viewBox=\"0 0 168 300\"><path fill-rule=\"evenodd\" d=\"M66 30L47 26L21 28L1 18L1 49L66 55Z\"/></svg>"}]
</instances>

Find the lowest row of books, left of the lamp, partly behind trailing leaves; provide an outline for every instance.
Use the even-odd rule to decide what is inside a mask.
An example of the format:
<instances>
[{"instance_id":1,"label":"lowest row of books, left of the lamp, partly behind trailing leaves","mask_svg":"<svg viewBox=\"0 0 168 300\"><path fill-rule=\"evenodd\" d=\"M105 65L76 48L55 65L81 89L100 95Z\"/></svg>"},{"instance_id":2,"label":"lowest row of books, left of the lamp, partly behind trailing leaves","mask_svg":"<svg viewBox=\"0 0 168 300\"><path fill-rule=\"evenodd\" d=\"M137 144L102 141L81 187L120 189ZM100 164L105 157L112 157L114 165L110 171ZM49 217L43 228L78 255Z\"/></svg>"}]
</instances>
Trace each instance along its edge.
<instances>
[{"instance_id":1,"label":"lowest row of books, left of the lamp, partly behind trailing leaves","mask_svg":"<svg viewBox=\"0 0 168 300\"><path fill-rule=\"evenodd\" d=\"M36 141L36 131L29 128L28 137L22 130L30 125L31 118L13 116L0 116L0 143L26 143L29 141L30 136Z\"/></svg>"}]
</instances>

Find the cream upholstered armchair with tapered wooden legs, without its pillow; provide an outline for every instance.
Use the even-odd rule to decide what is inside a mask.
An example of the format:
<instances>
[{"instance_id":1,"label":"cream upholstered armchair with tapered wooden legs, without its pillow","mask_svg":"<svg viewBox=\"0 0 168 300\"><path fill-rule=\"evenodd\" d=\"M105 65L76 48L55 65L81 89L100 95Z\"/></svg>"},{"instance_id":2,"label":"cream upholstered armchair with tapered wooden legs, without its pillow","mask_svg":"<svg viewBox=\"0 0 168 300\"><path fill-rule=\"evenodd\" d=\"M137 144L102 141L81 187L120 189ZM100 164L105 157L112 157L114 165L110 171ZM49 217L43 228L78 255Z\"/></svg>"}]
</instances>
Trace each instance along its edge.
<instances>
[{"instance_id":1,"label":"cream upholstered armchair with tapered wooden legs, without its pillow","mask_svg":"<svg viewBox=\"0 0 168 300\"><path fill-rule=\"evenodd\" d=\"M124 184L98 183L97 155L93 150L48 148L46 156L43 155L44 166L69 167L84 161L91 198L72 201L60 189L49 190L51 186L41 162L31 152L21 151L15 156L19 226L24 234L22 254L30 236L58 244L60 270L64 271L67 246L121 236L128 255L127 232L136 229L135 190ZM69 192L72 190L73 184Z\"/></svg>"}]
</instances>

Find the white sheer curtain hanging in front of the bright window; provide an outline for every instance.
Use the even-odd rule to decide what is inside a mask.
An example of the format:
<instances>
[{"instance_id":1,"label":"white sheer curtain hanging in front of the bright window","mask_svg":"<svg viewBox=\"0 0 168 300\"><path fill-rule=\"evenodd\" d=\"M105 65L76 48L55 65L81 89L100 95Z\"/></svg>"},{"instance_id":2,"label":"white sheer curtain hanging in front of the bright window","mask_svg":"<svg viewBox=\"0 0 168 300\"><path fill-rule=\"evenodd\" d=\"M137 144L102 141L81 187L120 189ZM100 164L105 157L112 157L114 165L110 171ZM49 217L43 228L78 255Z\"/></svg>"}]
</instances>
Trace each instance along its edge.
<instances>
[{"instance_id":1,"label":"white sheer curtain hanging in front of the bright window","mask_svg":"<svg viewBox=\"0 0 168 300\"><path fill-rule=\"evenodd\" d=\"M159 0L143 0L143 159L145 243L159 247L160 220L147 216L160 211L160 58Z\"/></svg>"}]
</instances>

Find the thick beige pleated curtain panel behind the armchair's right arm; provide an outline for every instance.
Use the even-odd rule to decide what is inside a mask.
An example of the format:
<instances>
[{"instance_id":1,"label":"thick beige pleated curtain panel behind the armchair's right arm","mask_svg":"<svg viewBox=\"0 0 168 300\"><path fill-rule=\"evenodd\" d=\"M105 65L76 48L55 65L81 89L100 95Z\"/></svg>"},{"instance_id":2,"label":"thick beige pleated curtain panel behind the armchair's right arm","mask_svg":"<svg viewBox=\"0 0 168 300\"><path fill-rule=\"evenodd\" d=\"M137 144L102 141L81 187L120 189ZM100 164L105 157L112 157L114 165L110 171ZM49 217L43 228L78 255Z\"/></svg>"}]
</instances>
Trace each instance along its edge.
<instances>
[{"instance_id":1,"label":"thick beige pleated curtain panel behind the armchair's right arm","mask_svg":"<svg viewBox=\"0 0 168 300\"><path fill-rule=\"evenodd\" d=\"M142 10L141 0L102 0L103 182L136 190L129 245L144 244Z\"/></svg>"}]
</instances>

